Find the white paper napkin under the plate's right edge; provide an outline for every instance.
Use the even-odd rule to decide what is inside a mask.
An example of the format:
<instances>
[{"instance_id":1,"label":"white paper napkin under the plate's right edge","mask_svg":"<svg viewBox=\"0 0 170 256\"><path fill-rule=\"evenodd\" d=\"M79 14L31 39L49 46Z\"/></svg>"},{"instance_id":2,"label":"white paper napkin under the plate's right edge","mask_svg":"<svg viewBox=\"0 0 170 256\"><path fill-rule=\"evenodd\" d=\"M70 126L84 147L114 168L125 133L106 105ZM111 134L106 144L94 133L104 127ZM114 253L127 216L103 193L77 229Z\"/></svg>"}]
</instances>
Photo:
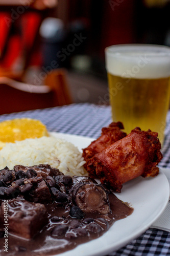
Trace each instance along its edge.
<instances>
[{"instance_id":1,"label":"white paper napkin under the plate's right edge","mask_svg":"<svg viewBox=\"0 0 170 256\"><path fill-rule=\"evenodd\" d=\"M162 168L162 171L166 175L170 185L170 170ZM163 211L163 214L153 223L151 227L170 232L170 201Z\"/></svg>"}]
</instances>

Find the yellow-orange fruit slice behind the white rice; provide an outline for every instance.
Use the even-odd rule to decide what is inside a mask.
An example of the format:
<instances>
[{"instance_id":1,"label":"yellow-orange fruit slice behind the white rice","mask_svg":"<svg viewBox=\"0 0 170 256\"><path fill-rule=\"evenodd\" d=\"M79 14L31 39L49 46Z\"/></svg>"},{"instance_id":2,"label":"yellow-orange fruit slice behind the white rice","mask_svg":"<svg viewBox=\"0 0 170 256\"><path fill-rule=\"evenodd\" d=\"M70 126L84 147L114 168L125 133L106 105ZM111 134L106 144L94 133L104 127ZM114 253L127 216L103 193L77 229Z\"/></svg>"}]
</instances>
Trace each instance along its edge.
<instances>
[{"instance_id":1,"label":"yellow-orange fruit slice behind the white rice","mask_svg":"<svg viewBox=\"0 0 170 256\"><path fill-rule=\"evenodd\" d=\"M6 142L48 136L46 126L39 120L15 118L0 122L0 149Z\"/></svg>"}]
</instances>

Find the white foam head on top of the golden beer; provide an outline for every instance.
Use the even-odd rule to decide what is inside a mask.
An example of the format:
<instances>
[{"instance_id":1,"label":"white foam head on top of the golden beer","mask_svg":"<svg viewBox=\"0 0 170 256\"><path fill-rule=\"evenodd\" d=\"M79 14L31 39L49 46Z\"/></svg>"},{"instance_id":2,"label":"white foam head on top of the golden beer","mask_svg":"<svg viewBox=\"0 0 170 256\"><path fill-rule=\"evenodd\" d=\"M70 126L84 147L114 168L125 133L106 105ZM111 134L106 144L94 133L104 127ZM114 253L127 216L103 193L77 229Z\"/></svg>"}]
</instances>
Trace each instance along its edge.
<instances>
[{"instance_id":1,"label":"white foam head on top of the golden beer","mask_svg":"<svg viewBox=\"0 0 170 256\"><path fill-rule=\"evenodd\" d=\"M170 76L170 48L156 45L107 47L107 72L120 77L156 79Z\"/></svg>"}]
</instances>

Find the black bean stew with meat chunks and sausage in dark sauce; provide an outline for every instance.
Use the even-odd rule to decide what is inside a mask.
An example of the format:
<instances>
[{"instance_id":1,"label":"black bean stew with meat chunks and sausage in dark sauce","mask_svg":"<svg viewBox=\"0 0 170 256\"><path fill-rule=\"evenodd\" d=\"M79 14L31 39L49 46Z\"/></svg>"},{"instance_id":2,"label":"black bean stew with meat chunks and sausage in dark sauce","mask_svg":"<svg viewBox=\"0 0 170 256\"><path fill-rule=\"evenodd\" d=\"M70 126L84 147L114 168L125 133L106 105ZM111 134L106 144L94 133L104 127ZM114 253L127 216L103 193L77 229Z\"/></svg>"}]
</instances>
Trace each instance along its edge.
<instances>
[{"instance_id":1,"label":"black bean stew with meat chunks and sausage in dark sauce","mask_svg":"<svg viewBox=\"0 0 170 256\"><path fill-rule=\"evenodd\" d=\"M47 164L1 170L0 205L0 254L8 256L70 250L133 211L95 180L66 176Z\"/></svg>"}]
</instances>

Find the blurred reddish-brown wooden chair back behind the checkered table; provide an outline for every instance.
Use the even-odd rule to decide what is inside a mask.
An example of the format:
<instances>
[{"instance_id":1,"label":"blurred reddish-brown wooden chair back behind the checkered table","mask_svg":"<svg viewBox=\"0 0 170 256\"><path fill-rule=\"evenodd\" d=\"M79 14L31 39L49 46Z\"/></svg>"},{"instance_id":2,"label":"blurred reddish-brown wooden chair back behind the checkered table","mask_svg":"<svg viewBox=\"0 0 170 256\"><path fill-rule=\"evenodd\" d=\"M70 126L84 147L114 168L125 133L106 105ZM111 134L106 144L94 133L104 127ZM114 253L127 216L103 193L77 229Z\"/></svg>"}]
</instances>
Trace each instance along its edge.
<instances>
[{"instance_id":1,"label":"blurred reddish-brown wooden chair back behind the checkered table","mask_svg":"<svg viewBox=\"0 0 170 256\"><path fill-rule=\"evenodd\" d=\"M51 108L72 103L66 70L47 75L45 85L32 85L0 77L0 114Z\"/></svg>"}]
</instances>

